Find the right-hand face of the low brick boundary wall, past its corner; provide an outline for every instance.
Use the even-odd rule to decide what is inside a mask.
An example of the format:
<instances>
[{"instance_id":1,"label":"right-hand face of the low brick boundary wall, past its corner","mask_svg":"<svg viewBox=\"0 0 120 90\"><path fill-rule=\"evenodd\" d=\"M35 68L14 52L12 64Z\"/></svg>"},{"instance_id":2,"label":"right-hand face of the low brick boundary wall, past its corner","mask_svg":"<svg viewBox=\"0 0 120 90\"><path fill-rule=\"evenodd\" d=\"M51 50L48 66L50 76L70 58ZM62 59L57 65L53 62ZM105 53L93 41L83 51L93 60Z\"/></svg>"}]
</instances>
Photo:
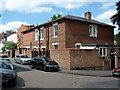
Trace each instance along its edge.
<instances>
[{"instance_id":1,"label":"right-hand face of the low brick boundary wall, past its corner","mask_svg":"<svg viewBox=\"0 0 120 90\"><path fill-rule=\"evenodd\" d=\"M81 68L81 67L93 67L103 66L103 58L99 57L98 50L70 50L70 67Z\"/></svg>"}]
</instances>

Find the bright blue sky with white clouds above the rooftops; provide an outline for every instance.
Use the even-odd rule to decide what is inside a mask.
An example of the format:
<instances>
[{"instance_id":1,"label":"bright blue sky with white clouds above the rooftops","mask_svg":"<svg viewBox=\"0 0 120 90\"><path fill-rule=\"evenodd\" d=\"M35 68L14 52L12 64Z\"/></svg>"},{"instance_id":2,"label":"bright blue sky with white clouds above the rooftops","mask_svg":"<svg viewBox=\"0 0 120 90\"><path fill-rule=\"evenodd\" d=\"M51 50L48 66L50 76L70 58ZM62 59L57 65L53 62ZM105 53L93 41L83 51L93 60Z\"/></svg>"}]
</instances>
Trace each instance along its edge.
<instances>
[{"instance_id":1,"label":"bright blue sky with white clouds above the rooftops","mask_svg":"<svg viewBox=\"0 0 120 90\"><path fill-rule=\"evenodd\" d=\"M0 33L17 31L21 24L39 25L55 14L84 17L90 11L92 19L112 25L110 17L116 14L119 0L0 0ZM116 25L115 25L116 26ZM118 28L118 26L116 26ZM114 34L119 31L115 28Z\"/></svg>"}]
</instances>

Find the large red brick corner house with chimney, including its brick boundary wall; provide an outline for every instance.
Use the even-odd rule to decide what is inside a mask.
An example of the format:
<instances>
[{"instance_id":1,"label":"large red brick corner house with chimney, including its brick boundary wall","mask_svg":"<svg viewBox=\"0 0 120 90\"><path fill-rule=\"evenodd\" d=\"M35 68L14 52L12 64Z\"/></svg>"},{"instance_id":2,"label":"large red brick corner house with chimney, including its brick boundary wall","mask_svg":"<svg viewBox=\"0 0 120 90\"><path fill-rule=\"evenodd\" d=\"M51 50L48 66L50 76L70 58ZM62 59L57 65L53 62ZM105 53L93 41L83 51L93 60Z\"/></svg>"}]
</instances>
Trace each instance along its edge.
<instances>
[{"instance_id":1,"label":"large red brick corner house with chimney, including its brick boundary wall","mask_svg":"<svg viewBox=\"0 0 120 90\"><path fill-rule=\"evenodd\" d=\"M114 46L114 26L92 20L90 12L84 18L66 15L21 33L22 48L26 48L23 53L34 56L33 51L39 52L40 47L42 55L50 56L61 67L113 69L118 66L118 60L112 60L110 53L115 57L120 48Z\"/></svg>"}]
</instances>

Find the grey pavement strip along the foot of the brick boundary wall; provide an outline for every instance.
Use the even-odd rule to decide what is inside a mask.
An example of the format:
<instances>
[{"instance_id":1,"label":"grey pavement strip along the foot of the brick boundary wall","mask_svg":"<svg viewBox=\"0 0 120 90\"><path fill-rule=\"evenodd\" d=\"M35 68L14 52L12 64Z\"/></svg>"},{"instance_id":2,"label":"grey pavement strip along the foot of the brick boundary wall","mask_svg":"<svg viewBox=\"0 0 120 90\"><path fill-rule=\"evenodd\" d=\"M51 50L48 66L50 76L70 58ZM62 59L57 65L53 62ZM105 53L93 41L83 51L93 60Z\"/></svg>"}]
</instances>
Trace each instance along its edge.
<instances>
[{"instance_id":1,"label":"grey pavement strip along the foot of the brick boundary wall","mask_svg":"<svg viewBox=\"0 0 120 90\"><path fill-rule=\"evenodd\" d=\"M74 75L112 77L112 70L70 70L70 69L60 68L59 72L74 74Z\"/></svg>"}]
</instances>

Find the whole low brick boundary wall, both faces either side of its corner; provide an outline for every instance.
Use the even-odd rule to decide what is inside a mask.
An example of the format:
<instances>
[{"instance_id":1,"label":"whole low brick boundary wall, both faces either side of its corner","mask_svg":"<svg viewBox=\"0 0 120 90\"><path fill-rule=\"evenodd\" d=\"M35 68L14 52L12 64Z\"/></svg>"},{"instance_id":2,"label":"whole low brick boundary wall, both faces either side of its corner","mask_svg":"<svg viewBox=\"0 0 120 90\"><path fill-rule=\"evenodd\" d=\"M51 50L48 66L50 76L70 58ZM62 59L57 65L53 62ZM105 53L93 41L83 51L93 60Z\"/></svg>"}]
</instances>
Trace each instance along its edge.
<instances>
[{"instance_id":1,"label":"whole low brick boundary wall, both faces either side of its corner","mask_svg":"<svg viewBox=\"0 0 120 90\"><path fill-rule=\"evenodd\" d=\"M100 58L98 50L62 49L50 50L51 59L58 62L60 67L76 69L81 67L104 66L107 58ZM109 63L108 63L109 64Z\"/></svg>"}]
</instances>

